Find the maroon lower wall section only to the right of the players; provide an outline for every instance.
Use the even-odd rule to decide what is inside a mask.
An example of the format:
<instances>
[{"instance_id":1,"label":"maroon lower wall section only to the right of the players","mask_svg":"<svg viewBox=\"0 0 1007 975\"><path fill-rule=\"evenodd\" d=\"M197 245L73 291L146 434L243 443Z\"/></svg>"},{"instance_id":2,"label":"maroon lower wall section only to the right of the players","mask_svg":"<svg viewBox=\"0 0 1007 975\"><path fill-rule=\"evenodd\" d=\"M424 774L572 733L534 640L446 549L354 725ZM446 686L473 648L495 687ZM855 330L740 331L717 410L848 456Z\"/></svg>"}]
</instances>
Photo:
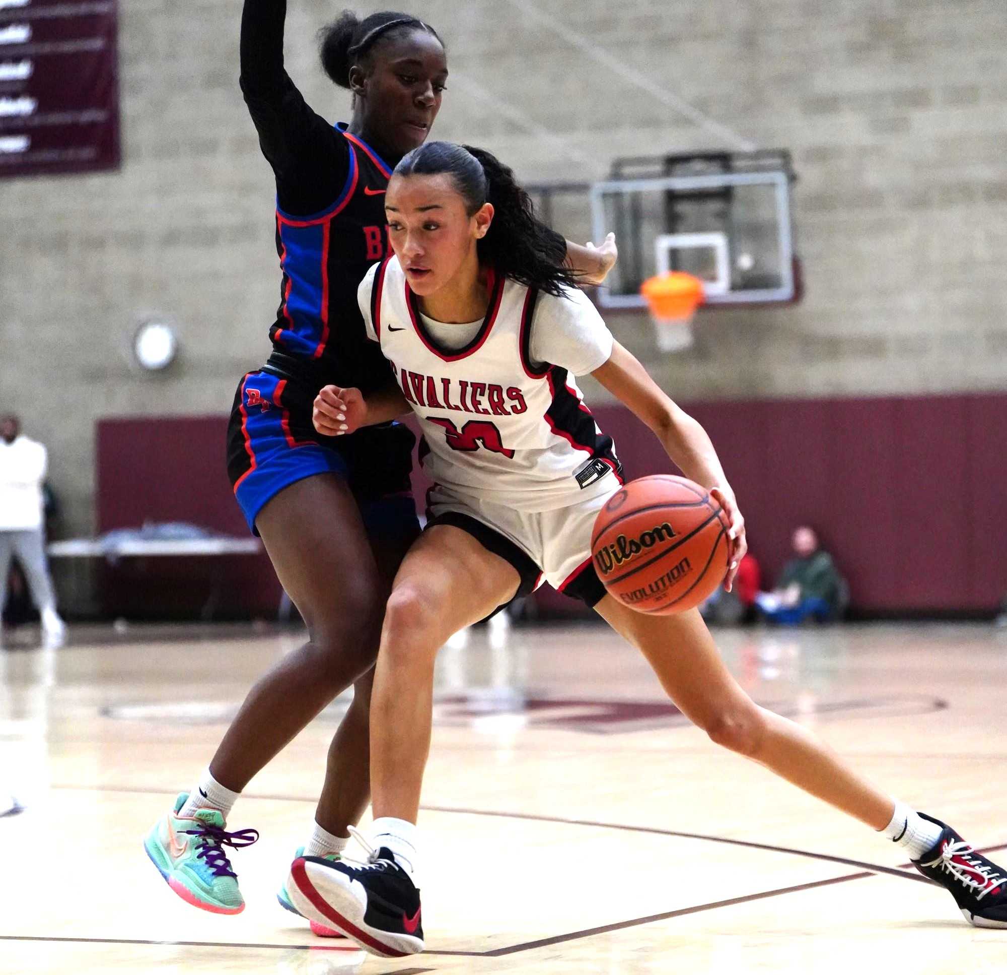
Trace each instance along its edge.
<instances>
[{"instance_id":1,"label":"maroon lower wall section only to the right of the players","mask_svg":"<svg viewBox=\"0 0 1007 975\"><path fill-rule=\"evenodd\" d=\"M774 579L819 530L865 611L990 610L1007 592L1007 395L687 404ZM671 470L622 407L595 411L630 477Z\"/></svg>"}]
</instances>

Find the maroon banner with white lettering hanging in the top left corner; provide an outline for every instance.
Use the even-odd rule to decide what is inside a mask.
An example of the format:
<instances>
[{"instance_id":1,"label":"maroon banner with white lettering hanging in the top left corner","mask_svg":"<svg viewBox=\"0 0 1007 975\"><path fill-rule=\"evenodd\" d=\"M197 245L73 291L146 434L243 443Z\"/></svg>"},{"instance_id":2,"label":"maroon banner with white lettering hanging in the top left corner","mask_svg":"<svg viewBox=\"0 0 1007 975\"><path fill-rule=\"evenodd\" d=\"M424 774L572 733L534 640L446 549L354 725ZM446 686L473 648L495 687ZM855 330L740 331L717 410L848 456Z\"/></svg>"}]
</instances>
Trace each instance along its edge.
<instances>
[{"instance_id":1,"label":"maroon banner with white lettering hanging in the top left corner","mask_svg":"<svg viewBox=\"0 0 1007 975\"><path fill-rule=\"evenodd\" d=\"M116 0L0 0L0 177L119 165Z\"/></svg>"}]
</instances>

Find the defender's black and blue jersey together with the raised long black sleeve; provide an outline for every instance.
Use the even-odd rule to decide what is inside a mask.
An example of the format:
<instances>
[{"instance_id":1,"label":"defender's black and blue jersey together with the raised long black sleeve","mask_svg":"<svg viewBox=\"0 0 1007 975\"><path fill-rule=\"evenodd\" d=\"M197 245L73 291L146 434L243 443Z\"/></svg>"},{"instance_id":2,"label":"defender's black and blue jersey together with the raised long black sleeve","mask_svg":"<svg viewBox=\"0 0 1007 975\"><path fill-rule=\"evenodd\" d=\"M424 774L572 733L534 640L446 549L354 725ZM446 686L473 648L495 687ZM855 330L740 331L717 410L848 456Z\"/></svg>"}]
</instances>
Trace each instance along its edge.
<instances>
[{"instance_id":1,"label":"defender's black and blue jersey together with the raised long black sleeve","mask_svg":"<svg viewBox=\"0 0 1007 975\"><path fill-rule=\"evenodd\" d=\"M285 0L246 0L241 86L276 175L280 306L271 363L315 388L365 392L388 366L364 331L356 288L389 251L385 189L398 159L332 126L304 101L283 66Z\"/></svg>"}]
</instances>

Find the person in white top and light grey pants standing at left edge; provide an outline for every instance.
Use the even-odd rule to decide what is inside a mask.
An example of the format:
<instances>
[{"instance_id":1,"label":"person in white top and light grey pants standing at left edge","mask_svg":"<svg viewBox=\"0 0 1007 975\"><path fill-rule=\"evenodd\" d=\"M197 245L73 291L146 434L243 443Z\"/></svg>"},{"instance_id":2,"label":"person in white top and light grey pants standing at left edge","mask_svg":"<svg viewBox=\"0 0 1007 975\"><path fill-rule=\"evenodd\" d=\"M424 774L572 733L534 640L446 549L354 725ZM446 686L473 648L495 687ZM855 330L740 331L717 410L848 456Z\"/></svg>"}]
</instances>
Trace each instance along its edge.
<instances>
[{"instance_id":1,"label":"person in white top and light grey pants standing at left edge","mask_svg":"<svg viewBox=\"0 0 1007 975\"><path fill-rule=\"evenodd\" d=\"M0 417L0 611L7 601L10 560L16 555L42 617L42 639L47 647L60 647L66 626L56 612L45 561L42 481L47 464L45 447L21 433L20 420Z\"/></svg>"}]
</instances>

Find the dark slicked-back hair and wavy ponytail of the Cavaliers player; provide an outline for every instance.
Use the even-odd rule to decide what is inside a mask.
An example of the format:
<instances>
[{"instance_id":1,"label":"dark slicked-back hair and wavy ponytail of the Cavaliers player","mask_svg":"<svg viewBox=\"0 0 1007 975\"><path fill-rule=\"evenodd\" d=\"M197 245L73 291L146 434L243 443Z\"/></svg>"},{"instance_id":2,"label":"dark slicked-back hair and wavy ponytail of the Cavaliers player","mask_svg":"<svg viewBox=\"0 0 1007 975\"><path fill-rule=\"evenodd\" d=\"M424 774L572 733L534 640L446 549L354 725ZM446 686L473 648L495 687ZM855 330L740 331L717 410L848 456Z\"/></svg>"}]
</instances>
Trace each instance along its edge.
<instances>
[{"instance_id":1,"label":"dark slicked-back hair and wavy ponytail of the Cavaliers player","mask_svg":"<svg viewBox=\"0 0 1007 975\"><path fill-rule=\"evenodd\" d=\"M564 265L566 241L535 216L532 199L514 170L491 152L453 142L427 142L405 155L398 175L450 173L465 208L474 214L493 204L493 220L476 247L481 264L530 288L557 297L576 287L576 275Z\"/></svg>"}]
</instances>

